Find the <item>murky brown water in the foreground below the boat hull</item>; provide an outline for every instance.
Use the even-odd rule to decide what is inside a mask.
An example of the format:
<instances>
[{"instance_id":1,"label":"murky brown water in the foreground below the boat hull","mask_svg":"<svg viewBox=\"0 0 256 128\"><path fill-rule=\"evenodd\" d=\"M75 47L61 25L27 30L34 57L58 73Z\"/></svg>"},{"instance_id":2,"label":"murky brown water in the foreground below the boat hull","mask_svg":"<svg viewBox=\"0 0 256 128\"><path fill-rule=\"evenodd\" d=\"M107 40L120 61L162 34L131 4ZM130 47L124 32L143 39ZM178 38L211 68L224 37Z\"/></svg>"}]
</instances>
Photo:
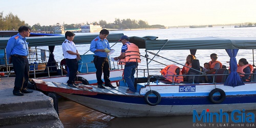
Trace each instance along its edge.
<instances>
[{"instance_id":1,"label":"murky brown water in the foreground below the boat hull","mask_svg":"<svg viewBox=\"0 0 256 128\"><path fill-rule=\"evenodd\" d=\"M246 111L256 113L256 111ZM230 113L229 113L230 114ZM193 123L193 115L116 118L70 100L59 100L59 118L65 127L256 127L256 123Z\"/></svg>"}]
</instances>

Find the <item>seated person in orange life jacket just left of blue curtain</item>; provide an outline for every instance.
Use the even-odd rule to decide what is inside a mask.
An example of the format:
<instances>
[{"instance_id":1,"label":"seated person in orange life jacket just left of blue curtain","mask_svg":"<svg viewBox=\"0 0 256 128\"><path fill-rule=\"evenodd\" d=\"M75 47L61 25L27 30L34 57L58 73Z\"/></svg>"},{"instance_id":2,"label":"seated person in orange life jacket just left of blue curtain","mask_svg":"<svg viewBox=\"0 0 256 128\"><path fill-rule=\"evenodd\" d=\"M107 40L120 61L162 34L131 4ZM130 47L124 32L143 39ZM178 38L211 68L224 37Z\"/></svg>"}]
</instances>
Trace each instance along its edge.
<instances>
[{"instance_id":1,"label":"seated person in orange life jacket just left of blue curtain","mask_svg":"<svg viewBox=\"0 0 256 128\"><path fill-rule=\"evenodd\" d=\"M215 74L215 71L222 67L222 63L217 60L218 55L215 53L210 54L210 59L211 59L211 61L209 61L210 71L207 71L206 74ZM207 78L208 78L208 82L213 82L212 76L207 76Z\"/></svg>"}]
</instances>

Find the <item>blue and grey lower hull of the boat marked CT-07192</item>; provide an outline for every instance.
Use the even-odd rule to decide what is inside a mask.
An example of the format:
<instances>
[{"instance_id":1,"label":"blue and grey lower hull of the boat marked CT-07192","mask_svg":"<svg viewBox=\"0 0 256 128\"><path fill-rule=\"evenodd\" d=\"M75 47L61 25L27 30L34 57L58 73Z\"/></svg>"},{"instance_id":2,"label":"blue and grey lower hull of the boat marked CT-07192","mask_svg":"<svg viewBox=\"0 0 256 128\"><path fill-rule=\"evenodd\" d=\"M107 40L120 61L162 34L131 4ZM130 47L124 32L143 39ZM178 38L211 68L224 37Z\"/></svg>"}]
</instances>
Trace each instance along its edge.
<instances>
[{"instance_id":1,"label":"blue and grey lower hull of the boat marked CT-07192","mask_svg":"<svg viewBox=\"0 0 256 128\"><path fill-rule=\"evenodd\" d=\"M110 95L71 95L65 93L57 93L63 97L71 99L79 104L87 106L101 113L115 117L153 117L153 116L177 116L177 115L193 115L193 110L202 112L209 109L209 112L232 112L233 110L255 110L256 103L239 103L242 99L248 99L248 96L227 97L226 102L214 104L208 100L208 97L182 97L170 98L162 97L161 103L155 106L148 105L144 101L144 97L140 96L110 96ZM105 97L104 99L100 97ZM253 97L253 98L252 98ZM256 96L250 96L255 99ZM112 100L111 100L112 99ZM116 100L113 100L116 99ZM129 99L129 100L127 100ZM125 102L124 102L125 101ZM201 102L201 103L199 103ZM207 104L204 104L204 103ZM233 103L232 103L233 102ZM234 103L236 102L236 103ZM168 104L167 104L168 103Z\"/></svg>"}]
</instances>

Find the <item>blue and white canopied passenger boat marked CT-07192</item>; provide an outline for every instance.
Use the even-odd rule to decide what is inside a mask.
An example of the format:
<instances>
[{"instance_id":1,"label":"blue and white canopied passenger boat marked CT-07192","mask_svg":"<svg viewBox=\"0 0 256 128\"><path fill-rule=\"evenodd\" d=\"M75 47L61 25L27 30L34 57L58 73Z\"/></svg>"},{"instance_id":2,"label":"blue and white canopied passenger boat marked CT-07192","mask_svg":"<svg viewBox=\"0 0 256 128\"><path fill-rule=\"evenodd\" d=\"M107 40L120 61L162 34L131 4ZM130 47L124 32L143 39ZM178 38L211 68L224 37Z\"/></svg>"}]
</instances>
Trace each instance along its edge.
<instances>
[{"instance_id":1,"label":"blue and white canopied passenger boat marked CT-07192","mask_svg":"<svg viewBox=\"0 0 256 128\"><path fill-rule=\"evenodd\" d=\"M147 69L147 77L136 79L137 92L134 94L125 93L128 88L123 80L120 80L119 86L114 89L108 87L99 89L93 85L71 88L62 82L33 80L39 90L55 92L79 104L115 117L194 115L195 112L198 116L203 112L224 113L234 110L244 112L244 110L256 109L255 74L252 74L250 82L243 82L235 70L237 66L235 57L238 50L255 49L256 37L199 37L169 40L156 38L153 36L130 37L130 41L139 48L145 48L145 56L151 53L161 57L158 54L160 50L195 52L196 49L223 49L223 52L227 51L231 57L230 73L227 69L219 69L216 71L213 83L196 83L196 77L200 75L195 74L188 75L192 76L193 82L175 83L164 80L161 75L151 75L150 69ZM155 50L153 52L156 53L151 50ZM150 65L153 58L147 59L147 65Z\"/></svg>"}]
</instances>

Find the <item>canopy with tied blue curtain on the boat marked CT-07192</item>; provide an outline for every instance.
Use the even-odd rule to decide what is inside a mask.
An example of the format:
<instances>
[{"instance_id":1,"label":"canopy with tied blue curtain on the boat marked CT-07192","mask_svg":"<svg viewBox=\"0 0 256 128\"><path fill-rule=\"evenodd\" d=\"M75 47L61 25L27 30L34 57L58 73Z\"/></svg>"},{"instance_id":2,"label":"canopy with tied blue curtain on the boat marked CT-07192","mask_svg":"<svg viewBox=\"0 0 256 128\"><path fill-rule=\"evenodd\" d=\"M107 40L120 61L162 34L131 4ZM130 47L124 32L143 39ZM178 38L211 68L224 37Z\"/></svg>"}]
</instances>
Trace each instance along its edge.
<instances>
[{"instance_id":1,"label":"canopy with tied blue curtain on the boat marked CT-07192","mask_svg":"<svg viewBox=\"0 0 256 128\"><path fill-rule=\"evenodd\" d=\"M256 37L197 37L183 39L157 40L158 37L130 37L133 42L141 49L147 50L195 50L197 49L225 49L230 57L230 74L225 81L225 86L242 86L243 80L237 73L237 53L239 49L256 49ZM192 54L192 53L191 53ZM154 57L153 57L154 58Z\"/></svg>"}]
</instances>

